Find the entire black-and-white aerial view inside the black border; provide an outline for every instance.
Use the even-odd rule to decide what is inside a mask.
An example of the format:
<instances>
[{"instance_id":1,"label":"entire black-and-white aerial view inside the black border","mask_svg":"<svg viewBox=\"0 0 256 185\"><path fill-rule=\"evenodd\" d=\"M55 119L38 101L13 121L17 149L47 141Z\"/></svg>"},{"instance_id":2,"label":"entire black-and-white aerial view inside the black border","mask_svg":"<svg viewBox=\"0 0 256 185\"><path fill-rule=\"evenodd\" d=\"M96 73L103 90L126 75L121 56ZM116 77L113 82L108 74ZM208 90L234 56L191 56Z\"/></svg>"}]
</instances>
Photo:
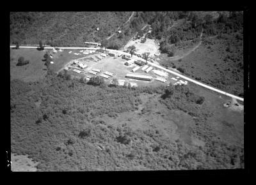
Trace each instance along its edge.
<instances>
[{"instance_id":1,"label":"entire black-and-white aerial view inside the black border","mask_svg":"<svg viewBox=\"0 0 256 185\"><path fill-rule=\"evenodd\" d=\"M244 11L8 14L12 172L244 169Z\"/></svg>"}]
</instances>

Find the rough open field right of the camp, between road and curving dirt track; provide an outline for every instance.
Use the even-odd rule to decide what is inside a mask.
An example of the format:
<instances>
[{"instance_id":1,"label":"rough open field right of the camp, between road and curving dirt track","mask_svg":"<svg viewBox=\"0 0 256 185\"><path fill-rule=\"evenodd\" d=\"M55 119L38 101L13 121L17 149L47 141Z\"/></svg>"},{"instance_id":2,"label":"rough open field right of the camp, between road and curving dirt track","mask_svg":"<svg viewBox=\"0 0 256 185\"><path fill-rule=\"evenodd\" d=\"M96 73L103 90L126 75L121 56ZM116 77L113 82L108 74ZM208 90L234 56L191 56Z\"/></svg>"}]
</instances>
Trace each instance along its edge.
<instances>
[{"instance_id":1,"label":"rough open field right of the camp, between road and curving dirt track","mask_svg":"<svg viewBox=\"0 0 256 185\"><path fill-rule=\"evenodd\" d=\"M185 75L196 78L205 84L222 89L227 93L243 96L243 48L239 42L231 53L226 51L226 41L212 38L211 44L204 42L188 56L170 61L161 55L160 63L164 66L183 68Z\"/></svg>"}]
</instances>

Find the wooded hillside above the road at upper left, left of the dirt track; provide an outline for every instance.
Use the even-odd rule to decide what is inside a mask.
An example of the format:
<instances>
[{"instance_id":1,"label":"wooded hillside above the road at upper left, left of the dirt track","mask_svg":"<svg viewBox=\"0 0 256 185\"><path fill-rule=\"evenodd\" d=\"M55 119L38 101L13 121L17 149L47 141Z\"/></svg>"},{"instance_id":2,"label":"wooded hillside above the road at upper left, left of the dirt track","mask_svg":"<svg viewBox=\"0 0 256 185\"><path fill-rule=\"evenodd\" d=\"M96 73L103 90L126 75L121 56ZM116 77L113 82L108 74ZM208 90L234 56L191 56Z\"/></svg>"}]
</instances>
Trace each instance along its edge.
<instances>
[{"instance_id":1,"label":"wooded hillside above the road at upper left, left of the dirt track","mask_svg":"<svg viewBox=\"0 0 256 185\"><path fill-rule=\"evenodd\" d=\"M130 17L129 11L11 12L10 43L83 46L115 32ZM96 28L99 27L99 31Z\"/></svg>"}]
</instances>

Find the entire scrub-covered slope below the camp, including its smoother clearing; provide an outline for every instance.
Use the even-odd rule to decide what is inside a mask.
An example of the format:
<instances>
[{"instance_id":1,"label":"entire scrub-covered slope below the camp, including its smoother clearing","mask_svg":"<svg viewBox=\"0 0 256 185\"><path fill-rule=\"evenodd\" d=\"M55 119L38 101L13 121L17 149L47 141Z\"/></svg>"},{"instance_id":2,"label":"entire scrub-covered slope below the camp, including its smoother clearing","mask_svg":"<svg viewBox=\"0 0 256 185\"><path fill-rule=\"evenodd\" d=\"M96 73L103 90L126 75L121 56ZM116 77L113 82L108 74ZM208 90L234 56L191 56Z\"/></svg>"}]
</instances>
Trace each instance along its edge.
<instances>
[{"instance_id":1,"label":"entire scrub-covered slope below the camp, including its smoother clearing","mask_svg":"<svg viewBox=\"0 0 256 185\"><path fill-rule=\"evenodd\" d=\"M208 96L51 73L44 82L12 80L12 152L28 154L39 171L243 168L243 112Z\"/></svg>"}]
</instances>

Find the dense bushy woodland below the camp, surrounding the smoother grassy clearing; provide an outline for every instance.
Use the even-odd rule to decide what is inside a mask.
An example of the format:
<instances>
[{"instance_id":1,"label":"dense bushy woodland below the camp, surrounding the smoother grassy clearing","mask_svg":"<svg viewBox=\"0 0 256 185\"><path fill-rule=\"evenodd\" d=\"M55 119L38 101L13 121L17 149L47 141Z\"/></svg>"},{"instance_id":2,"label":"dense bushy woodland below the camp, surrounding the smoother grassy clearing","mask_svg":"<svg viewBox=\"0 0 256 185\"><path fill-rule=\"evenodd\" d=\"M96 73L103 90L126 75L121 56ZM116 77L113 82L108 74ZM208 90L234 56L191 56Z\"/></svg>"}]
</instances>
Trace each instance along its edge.
<instances>
[{"instance_id":1,"label":"dense bushy woodland below the camp, surrounding the smoother grassy clearing","mask_svg":"<svg viewBox=\"0 0 256 185\"><path fill-rule=\"evenodd\" d=\"M140 93L163 94L168 108L204 118L202 98L184 86L99 87L51 72L43 82L12 80L10 86L12 152L38 161L39 171L243 168L243 149L212 140L206 129L202 148L171 140L161 129L102 119L136 110ZM204 126L204 120L198 122Z\"/></svg>"}]
</instances>

